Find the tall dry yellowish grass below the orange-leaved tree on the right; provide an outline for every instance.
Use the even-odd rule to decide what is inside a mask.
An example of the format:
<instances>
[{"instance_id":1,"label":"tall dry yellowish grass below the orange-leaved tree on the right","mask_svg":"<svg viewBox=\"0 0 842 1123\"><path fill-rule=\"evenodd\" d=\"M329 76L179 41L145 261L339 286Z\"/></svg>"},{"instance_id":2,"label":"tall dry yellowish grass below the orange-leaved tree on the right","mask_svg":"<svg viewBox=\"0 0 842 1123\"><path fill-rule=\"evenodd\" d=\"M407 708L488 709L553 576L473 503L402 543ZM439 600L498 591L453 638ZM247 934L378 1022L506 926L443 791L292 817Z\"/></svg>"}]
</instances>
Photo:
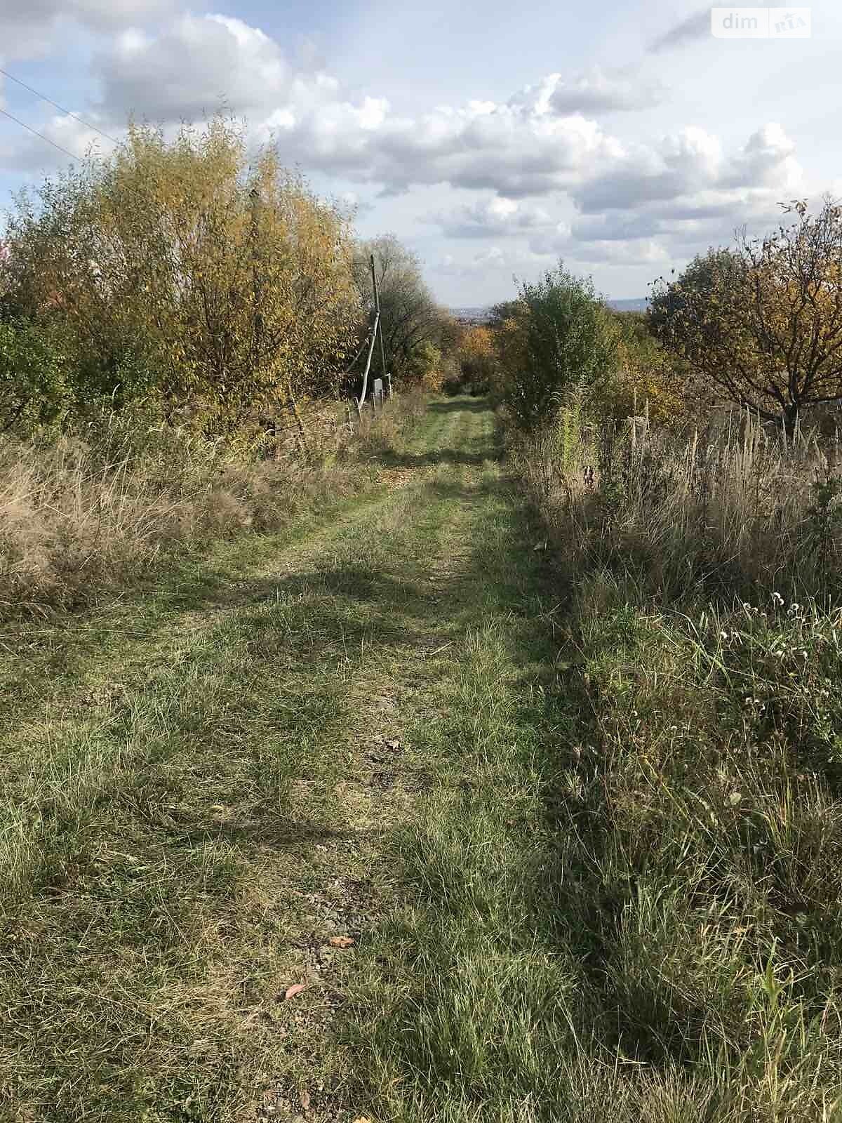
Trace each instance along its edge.
<instances>
[{"instance_id":1,"label":"tall dry yellowish grass below the orange-leaved tree on the right","mask_svg":"<svg viewBox=\"0 0 842 1123\"><path fill-rule=\"evenodd\" d=\"M610 432L571 411L520 463L571 573L607 565L671 597L778 586L823 596L842 549L838 445L739 413L633 444L628 426Z\"/></svg>"}]
</instances>

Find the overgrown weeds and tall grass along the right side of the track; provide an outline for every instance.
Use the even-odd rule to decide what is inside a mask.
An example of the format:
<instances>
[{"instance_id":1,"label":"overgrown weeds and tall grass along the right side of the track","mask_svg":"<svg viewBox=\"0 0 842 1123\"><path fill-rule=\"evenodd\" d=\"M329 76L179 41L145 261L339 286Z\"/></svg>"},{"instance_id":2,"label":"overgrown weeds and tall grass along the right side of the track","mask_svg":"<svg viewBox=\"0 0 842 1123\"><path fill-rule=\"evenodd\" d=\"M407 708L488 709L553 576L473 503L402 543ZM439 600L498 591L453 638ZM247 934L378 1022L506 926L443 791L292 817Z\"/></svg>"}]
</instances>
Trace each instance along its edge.
<instances>
[{"instance_id":1,"label":"overgrown weeds and tall grass along the right side of the track","mask_svg":"<svg viewBox=\"0 0 842 1123\"><path fill-rule=\"evenodd\" d=\"M568 410L521 446L577 714L559 940L611 1119L842 1110L834 444L738 417L633 448Z\"/></svg>"}]
</instances>

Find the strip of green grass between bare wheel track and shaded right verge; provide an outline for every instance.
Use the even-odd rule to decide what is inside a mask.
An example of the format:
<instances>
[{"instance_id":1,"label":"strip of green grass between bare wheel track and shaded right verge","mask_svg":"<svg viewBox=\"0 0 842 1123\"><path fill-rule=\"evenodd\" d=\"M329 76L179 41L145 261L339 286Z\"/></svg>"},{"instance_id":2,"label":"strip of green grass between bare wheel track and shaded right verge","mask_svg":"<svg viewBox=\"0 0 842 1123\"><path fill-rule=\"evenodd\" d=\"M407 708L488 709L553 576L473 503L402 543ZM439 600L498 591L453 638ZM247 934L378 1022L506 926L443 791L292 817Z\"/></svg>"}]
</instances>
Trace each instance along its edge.
<instances>
[{"instance_id":1,"label":"strip of green grass between bare wheel track and shaded right verge","mask_svg":"<svg viewBox=\"0 0 842 1123\"><path fill-rule=\"evenodd\" d=\"M401 904L356 980L350 1039L378 1120L549 1120L569 1106L582 973L555 939L546 804L568 723L519 576L529 569L475 602L485 622L439 672L443 715L413 731L438 779L387 849Z\"/></svg>"}]
</instances>

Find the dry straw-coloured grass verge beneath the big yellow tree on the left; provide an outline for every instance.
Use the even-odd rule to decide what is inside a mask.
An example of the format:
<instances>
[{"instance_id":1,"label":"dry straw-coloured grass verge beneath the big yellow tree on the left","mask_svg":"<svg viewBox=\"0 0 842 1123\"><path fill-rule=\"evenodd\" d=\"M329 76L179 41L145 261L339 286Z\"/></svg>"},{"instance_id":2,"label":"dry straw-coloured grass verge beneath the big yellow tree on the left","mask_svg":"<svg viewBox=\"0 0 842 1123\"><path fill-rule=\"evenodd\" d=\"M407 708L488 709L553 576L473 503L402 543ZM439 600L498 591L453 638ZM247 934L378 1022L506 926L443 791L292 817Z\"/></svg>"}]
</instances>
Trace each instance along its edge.
<instances>
[{"instance_id":1,"label":"dry straw-coloured grass verge beneath the big yellow tree on the left","mask_svg":"<svg viewBox=\"0 0 842 1123\"><path fill-rule=\"evenodd\" d=\"M91 604L221 538L324 517L382 481L377 456L403 446L420 408L396 399L353 439L327 408L306 449L277 459L122 416L48 444L0 440L0 619Z\"/></svg>"}]
</instances>

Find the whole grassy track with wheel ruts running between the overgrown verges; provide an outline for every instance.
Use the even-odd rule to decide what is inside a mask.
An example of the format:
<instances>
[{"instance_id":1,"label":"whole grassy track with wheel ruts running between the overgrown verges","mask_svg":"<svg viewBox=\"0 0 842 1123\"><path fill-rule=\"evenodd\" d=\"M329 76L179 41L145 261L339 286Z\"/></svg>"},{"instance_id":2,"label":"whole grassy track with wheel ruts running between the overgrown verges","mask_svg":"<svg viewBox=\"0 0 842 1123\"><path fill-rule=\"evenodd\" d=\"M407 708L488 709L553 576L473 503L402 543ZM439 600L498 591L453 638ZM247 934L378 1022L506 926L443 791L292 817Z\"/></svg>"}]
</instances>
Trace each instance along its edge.
<instances>
[{"instance_id":1,"label":"whole grassy track with wheel ruts running between the overgrown verges","mask_svg":"<svg viewBox=\"0 0 842 1123\"><path fill-rule=\"evenodd\" d=\"M1 1120L544 1117L565 727L496 457L433 403L387 491L0 638Z\"/></svg>"}]
</instances>

